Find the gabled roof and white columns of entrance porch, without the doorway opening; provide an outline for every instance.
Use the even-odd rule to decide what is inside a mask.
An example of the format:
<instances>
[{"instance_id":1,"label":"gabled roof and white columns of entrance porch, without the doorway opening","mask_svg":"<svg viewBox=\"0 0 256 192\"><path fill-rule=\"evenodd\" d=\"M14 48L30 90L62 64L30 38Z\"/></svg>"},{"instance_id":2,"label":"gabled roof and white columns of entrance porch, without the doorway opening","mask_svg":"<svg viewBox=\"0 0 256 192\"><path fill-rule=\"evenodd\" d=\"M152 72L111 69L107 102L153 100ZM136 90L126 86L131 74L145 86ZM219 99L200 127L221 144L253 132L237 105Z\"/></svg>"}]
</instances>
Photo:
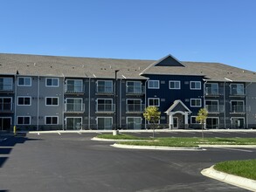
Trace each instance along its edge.
<instances>
[{"instance_id":1,"label":"gabled roof and white columns of entrance porch, without the doorway opening","mask_svg":"<svg viewBox=\"0 0 256 192\"><path fill-rule=\"evenodd\" d=\"M184 124L184 127L188 127L189 125L189 114L191 113L190 109L183 104L181 100L175 100L170 108L165 112L169 115L169 127L173 128L173 115L179 113L183 115L184 120L179 120L181 124Z\"/></svg>"}]
</instances>

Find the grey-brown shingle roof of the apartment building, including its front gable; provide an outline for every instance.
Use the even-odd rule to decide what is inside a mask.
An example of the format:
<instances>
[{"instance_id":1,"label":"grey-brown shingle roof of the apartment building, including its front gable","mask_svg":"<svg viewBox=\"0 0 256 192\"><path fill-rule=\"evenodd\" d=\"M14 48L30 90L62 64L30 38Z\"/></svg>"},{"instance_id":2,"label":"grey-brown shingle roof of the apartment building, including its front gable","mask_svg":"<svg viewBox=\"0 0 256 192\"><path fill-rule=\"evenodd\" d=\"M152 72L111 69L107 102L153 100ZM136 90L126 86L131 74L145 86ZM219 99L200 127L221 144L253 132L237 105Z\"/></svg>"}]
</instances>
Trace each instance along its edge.
<instances>
[{"instance_id":1,"label":"grey-brown shingle roof of the apartment building, including its front gable","mask_svg":"<svg viewBox=\"0 0 256 192\"><path fill-rule=\"evenodd\" d=\"M170 65L168 64L170 62ZM159 64L159 65L158 65ZM163 65L164 64L164 65ZM181 65L179 65L181 64ZM211 81L256 82L255 72L230 65L206 62L181 62L169 55L159 60L75 58L26 54L0 54L0 74L56 77L145 79L147 74L194 75Z\"/></svg>"}]
</instances>

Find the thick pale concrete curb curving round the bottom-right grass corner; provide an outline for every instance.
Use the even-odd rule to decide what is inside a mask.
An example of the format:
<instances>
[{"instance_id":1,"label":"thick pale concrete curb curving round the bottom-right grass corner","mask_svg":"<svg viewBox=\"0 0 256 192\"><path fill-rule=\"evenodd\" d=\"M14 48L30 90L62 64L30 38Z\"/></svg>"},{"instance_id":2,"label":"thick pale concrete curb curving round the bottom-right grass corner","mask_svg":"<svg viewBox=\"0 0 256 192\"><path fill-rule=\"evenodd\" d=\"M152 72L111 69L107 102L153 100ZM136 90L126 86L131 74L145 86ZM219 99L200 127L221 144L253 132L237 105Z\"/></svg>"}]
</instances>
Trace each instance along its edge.
<instances>
[{"instance_id":1,"label":"thick pale concrete curb curving round the bottom-right grass corner","mask_svg":"<svg viewBox=\"0 0 256 192\"><path fill-rule=\"evenodd\" d=\"M248 189L256 191L256 181L251 179L246 179L237 175L229 175L214 169L214 166L211 168L204 168L201 171L201 174L212 179L216 179L220 182L226 182L232 185L235 185L239 188Z\"/></svg>"}]
</instances>

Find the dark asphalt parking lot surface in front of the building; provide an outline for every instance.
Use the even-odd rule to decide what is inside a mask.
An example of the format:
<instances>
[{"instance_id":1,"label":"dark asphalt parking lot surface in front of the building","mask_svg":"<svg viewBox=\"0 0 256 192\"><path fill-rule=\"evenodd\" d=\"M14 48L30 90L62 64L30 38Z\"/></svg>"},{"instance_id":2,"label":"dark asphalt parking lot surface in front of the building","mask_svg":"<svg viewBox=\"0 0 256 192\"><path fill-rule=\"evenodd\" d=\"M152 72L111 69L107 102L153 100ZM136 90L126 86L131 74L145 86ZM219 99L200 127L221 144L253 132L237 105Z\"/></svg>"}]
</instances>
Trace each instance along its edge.
<instances>
[{"instance_id":1,"label":"dark asphalt parking lot surface in front of the building","mask_svg":"<svg viewBox=\"0 0 256 192\"><path fill-rule=\"evenodd\" d=\"M201 134L191 133L172 134ZM246 191L204 177L200 171L218 161L256 157L256 148L120 149L110 147L113 143L91 141L95 135L27 134L1 141L0 191ZM225 135L256 137L255 133Z\"/></svg>"}]
</instances>

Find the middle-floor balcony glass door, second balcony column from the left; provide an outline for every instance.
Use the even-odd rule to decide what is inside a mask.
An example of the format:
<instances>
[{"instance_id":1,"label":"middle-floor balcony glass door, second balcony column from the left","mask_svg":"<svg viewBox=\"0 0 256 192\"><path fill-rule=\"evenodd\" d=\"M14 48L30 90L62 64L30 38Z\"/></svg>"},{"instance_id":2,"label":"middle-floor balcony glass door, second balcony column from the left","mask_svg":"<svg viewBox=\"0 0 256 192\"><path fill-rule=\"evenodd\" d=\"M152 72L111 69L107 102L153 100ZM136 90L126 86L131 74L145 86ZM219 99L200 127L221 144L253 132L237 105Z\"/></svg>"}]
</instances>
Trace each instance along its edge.
<instances>
[{"instance_id":1,"label":"middle-floor balcony glass door, second balcony column from the left","mask_svg":"<svg viewBox=\"0 0 256 192\"><path fill-rule=\"evenodd\" d=\"M84 105L81 98L67 98L65 104L66 112L83 112Z\"/></svg>"}]
</instances>

